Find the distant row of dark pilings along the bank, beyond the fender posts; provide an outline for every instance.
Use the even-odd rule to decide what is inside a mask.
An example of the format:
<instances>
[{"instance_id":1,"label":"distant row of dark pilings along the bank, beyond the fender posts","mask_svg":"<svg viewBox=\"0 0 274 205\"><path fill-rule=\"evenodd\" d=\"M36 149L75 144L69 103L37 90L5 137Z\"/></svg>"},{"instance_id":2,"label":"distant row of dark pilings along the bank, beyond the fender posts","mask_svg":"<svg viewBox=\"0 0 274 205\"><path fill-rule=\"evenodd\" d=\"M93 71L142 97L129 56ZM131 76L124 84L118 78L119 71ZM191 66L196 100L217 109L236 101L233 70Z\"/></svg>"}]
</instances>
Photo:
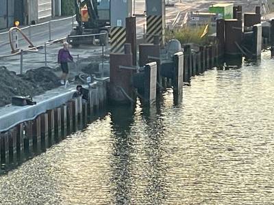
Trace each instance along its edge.
<instances>
[{"instance_id":1,"label":"distant row of dark pilings along the bank, beyond the fender posts","mask_svg":"<svg viewBox=\"0 0 274 205\"><path fill-rule=\"evenodd\" d=\"M193 51L189 44L184 46L184 83L190 83L191 77L203 74L219 66L223 52L219 44L199 46L199 51Z\"/></svg>"}]
</instances>

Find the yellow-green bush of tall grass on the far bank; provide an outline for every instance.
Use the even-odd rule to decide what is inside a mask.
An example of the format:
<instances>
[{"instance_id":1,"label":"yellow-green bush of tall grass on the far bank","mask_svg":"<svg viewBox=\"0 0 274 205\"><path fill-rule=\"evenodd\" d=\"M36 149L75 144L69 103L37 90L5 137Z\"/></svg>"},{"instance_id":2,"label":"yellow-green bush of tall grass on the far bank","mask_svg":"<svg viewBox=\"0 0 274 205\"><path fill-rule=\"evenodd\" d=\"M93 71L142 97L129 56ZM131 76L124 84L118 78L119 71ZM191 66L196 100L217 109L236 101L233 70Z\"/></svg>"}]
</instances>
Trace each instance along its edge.
<instances>
[{"instance_id":1,"label":"yellow-green bush of tall grass on the far bank","mask_svg":"<svg viewBox=\"0 0 274 205\"><path fill-rule=\"evenodd\" d=\"M203 31L205 30L206 25L204 26L197 26L197 27L182 27L173 30L166 31L166 39L177 39L181 44L208 44L208 34L201 38ZM209 28L210 29L210 28ZM210 33L210 32L208 32Z\"/></svg>"}]
</instances>

